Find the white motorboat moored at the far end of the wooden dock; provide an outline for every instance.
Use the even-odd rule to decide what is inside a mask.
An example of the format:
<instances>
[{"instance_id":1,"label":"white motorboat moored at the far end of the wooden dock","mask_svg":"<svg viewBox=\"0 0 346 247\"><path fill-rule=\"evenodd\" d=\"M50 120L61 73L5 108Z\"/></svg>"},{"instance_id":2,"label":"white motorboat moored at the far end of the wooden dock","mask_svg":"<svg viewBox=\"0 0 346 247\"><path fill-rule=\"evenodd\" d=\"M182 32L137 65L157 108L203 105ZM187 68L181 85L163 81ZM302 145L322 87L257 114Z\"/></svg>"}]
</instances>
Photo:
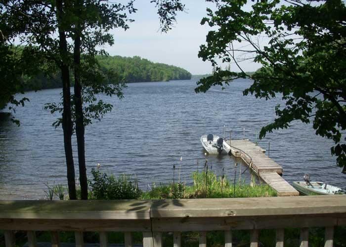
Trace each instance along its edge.
<instances>
[{"instance_id":1,"label":"white motorboat moored at the far end of the wooden dock","mask_svg":"<svg viewBox=\"0 0 346 247\"><path fill-rule=\"evenodd\" d=\"M202 135L201 142L209 154L228 154L231 151L231 146L217 135Z\"/></svg>"}]
</instances>

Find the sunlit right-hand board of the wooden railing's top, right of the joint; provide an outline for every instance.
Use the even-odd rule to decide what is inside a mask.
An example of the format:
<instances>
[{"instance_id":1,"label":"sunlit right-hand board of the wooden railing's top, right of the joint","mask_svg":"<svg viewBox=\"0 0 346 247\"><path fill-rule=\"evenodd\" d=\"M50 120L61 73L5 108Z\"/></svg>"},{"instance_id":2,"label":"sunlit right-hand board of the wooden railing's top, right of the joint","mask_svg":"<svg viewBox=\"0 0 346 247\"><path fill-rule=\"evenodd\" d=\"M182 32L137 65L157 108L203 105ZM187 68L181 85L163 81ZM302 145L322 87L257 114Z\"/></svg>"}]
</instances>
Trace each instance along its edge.
<instances>
[{"instance_id":1,"label":"sunlit right-hand board of the wooden railing's top, right of the joint","mask_svg":"<svg viewBox=\"0 0 346 247\"><path fill-rule=\"evenodd\" d=\"M346 213L346 196L262 197L160 200L151 207L153 218L243 217Z\"/></svg>"}]
</instances>

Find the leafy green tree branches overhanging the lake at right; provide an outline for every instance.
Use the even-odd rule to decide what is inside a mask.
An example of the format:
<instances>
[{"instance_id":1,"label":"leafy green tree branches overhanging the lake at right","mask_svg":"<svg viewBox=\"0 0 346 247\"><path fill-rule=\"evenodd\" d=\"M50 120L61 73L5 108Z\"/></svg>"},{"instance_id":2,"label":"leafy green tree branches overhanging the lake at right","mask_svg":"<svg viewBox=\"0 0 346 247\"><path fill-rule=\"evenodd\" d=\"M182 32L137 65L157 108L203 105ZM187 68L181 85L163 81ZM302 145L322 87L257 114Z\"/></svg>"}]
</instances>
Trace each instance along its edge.
<instances>
[{"instance_id":1,"label":"leafy green tree branches overhanging the lake at right","mask_svg":"<svg viewBox=\"0 0 346 247\"><path fill-rule=\"evenodd\" d=\"M332 139L331 153L346 173L346 6L342 0L286 1L210 0L201 24L213 27L199 57L216 66L216 73L201 79L196 92L224 87L229 80L252 78L244 95L282 98L277 118L264 126L259 137L288 128L296 120L313 121L317 135ZM216 29L216 30L215 30ZM265 37L263 39L263 37ZM264 43L265 42L265 43ZM242 61L261 64L252 76ZM234 63L241 72L221 69Z\"/></svg>"}]
</instances>

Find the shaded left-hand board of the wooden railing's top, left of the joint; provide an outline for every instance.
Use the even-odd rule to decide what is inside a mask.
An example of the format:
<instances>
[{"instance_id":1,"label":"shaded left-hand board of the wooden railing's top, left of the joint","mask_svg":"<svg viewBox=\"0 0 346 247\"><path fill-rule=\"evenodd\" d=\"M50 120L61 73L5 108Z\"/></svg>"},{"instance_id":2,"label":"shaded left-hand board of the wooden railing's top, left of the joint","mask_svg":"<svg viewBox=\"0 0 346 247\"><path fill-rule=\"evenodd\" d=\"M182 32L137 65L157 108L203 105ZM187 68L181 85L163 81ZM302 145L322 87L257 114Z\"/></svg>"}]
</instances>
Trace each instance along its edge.
<instances>
[{"instance_id":1,"label":"shaded left-hand board of the wooden railing's top, left of the joint","mask_svg":"<svg viewBox=\"0 0 346 247\"><path fill-rule=\"evenodd\" d=\"M0 201L0 218L150 219L148 200Z\"/></svg>"}]
</instances>

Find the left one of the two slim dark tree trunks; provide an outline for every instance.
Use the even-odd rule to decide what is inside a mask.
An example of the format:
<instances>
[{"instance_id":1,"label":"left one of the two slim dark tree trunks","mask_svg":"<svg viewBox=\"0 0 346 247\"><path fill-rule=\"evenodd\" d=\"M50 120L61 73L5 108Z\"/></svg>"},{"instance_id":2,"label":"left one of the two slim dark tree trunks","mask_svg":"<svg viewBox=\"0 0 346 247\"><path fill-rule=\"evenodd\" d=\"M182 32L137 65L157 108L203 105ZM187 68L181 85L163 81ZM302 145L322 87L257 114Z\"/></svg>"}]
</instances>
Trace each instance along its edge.
<instances>
[{"instance_id":1,"label":"left one of the two slim dark tree trunks","mask_svg":"<svg viewBox=\"0 0 346 247\"><path fill-rule=\"evenodd\" d=\"M66 60L68 59L67 41L65 30L62 28L63 18L63 5L62 0L56 0L57 6L57 20L59 32L59 53L61 56L61 79L62 79L62 92L64 111L62 114L62 129L64 131L64 147L67 166L67 182L69 188L70 200L76 200L76 183L75 183L75 166L73 163L72 152L72 117L71 117L71 91L70 91L70 71Z\"/></svg>"}]
</instances>

